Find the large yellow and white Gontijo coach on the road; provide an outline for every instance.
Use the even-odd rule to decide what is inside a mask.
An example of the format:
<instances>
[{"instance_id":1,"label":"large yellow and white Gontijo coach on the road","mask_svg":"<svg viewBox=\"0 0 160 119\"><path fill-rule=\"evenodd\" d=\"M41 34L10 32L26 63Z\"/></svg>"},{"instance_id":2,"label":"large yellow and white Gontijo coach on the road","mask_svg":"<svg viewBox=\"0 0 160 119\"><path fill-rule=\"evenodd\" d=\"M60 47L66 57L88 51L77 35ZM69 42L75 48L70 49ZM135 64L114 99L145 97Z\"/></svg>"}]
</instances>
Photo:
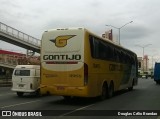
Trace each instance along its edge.
<instances>
[{"instance_id":1,"label":"large yellow and white Gontijo coach on the road","mask_svg":"<svg viewBox=\"0 0 160 119\"><path fill-rule=\"evenodd\" d=\"M41 93L110 98L138 82L137 55L85 28L45 31L41 41Z\"/></svg>"}]
</instances>

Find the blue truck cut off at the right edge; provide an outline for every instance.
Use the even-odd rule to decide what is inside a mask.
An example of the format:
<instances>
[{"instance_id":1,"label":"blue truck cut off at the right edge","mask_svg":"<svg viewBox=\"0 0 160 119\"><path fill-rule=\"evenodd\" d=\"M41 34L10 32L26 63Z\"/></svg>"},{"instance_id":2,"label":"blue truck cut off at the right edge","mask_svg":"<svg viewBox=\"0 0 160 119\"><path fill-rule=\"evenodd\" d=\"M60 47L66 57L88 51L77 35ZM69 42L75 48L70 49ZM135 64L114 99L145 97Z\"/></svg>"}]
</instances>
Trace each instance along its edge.
<instances>
[{"instance_id":1,"label":"blue truck cut off at the right edge","mask_svg":"<svg viewBox=\"0 0 160 119\"><path fill-rule=\"evenodd\" d=\"M160 84L160 62L155 63L154 67L154 81Z\"/></svg>"}]
</instances>

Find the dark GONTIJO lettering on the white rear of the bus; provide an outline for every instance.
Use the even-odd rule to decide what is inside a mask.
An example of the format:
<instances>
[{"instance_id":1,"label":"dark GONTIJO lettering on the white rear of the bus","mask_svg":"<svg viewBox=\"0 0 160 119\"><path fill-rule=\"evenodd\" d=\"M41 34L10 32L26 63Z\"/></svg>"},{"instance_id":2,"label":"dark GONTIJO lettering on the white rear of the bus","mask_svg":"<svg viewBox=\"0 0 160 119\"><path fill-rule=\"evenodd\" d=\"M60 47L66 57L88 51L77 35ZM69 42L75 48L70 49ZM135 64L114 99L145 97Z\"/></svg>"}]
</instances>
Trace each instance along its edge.
<instances>
[{"instance_id":1,"label":"dark GONTIJO lettering on the white rear of the bus","mask_svg":"<svg viewBox=\"0 0 160 119\"><path fill-rule=\"evenodd\" d=\"M81 60L81 55L43 55L43 60Z\"/></svg>"}]
</instances>

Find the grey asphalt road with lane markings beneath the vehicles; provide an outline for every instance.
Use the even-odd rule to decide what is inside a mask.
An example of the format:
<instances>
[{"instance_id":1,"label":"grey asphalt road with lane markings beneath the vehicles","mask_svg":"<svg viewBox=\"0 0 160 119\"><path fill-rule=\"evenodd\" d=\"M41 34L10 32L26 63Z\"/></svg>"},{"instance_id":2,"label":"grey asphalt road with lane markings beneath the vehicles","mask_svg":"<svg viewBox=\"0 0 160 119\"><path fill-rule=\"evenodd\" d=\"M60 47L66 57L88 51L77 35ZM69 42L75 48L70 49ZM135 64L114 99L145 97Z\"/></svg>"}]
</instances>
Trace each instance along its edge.
<instances>
[{"instance_id":1,"label":"grey asphalt road with lane markings beneath the vehicles","mask_svg":"<svg viewBox=\"0 0 160 119\"><path fill-rule=\"evenodd\" d=\"M149 113L153 112L156 114L156 112L160 110L159 88L160 85L157 85L153 79L139 79L139 84L134 87L133 91L122 90L116 92L113 98L105 101L100 101L97 98L74 98L66 101L61 96L36 97L25 94L22 98L19 98L15 92L10 90L11 87L0 87L0 110L1 112L17 110L24 115L26 113L28 115L26 111L38 112L39 110L41 112L44 110L42 117L37 117L37 119L160 119L158 116L142 116L143 112L147 113L147 111L149 111ZM54 116L46 117L43 115L46 114L46 112ZM134 115L133 113L137 116L129 116L131 114ZM16 114L17 113L15 113L14 116ZM40 115L40 113L37 113L37 115L38 114ZM88 116L86 116L87 114ZM128 116L124 116L127 114ZM0 117L0 119L6 118L17 119L18 117Z\"/></svg>"}]
</instances>

